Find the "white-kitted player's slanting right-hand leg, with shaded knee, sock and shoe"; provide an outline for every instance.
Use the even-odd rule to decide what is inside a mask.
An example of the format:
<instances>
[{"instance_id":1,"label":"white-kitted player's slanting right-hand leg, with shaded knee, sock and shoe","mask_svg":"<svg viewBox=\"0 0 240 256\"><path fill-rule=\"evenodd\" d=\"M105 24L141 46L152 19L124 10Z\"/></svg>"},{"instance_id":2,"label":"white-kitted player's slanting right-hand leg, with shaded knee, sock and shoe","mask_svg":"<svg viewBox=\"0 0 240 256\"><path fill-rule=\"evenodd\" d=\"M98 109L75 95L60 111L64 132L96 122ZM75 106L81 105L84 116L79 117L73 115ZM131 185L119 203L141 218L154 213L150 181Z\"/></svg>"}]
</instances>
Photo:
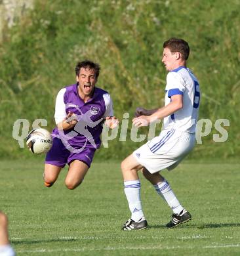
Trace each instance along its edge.
<instances>
[{"instance_id":1,"label":"white-kitted player's slanting right-hand leg, with shaded knee, sock and shoe","mask_svg":"<svg viewBox=\"0 0 240 256\"><path fill-rule=\"evenodd\" d=\"M146 168L142 171L144 177L153 184L157 194L167 202L169 207L172 209L172 220L167 224L167 228L174 228L179 224L190 221L191 215L178 201L169 182L164 179L159 173L151 174Z\"/></svg>"}]
</instances>

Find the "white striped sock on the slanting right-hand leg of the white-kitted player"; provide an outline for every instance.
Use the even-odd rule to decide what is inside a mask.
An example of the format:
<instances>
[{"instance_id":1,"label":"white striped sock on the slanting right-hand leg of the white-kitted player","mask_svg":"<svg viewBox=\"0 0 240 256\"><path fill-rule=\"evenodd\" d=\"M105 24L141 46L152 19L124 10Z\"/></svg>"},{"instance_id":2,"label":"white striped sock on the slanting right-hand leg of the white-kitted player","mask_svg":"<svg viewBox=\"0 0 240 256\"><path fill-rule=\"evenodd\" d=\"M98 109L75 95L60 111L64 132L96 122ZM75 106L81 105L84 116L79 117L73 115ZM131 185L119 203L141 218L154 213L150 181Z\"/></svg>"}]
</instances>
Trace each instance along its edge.
<instances>
[{"instance_id":1,"label":"white striped sock on the slanting right-hand leg of the white-kitted player","mask_svg":"<svg viewBox=\"0 0 240 256\"><path fill-rule=\"evenodd\" d=\"M169 182L167 182L165 179L163 182L159 182L157 185L154 185L154 188L157 193L168 203L174 213L179 214L184 209L174 195Z\"/></svg>"}]
</instances>

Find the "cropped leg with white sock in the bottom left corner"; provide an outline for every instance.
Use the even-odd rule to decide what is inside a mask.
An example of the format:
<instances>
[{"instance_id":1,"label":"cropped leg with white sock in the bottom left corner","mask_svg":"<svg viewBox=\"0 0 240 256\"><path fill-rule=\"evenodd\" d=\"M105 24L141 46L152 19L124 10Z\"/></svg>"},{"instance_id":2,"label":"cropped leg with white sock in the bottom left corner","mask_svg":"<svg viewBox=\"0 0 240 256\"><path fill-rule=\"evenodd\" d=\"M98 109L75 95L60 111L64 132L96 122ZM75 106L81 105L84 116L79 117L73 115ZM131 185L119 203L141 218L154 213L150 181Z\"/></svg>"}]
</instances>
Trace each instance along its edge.
<instances>
[{"instance_id":1,"label":"cropped leg with white sock in the bottom left corner","mask_svg":"<svg viewBox=\"0 0 240 256\"><path fill-rule=\"evenodd\" d=\"M7 216L0 211L0 255L14 256L14 250L9 243L9 235L7 232Z\"/></svg>"}]
</instances>

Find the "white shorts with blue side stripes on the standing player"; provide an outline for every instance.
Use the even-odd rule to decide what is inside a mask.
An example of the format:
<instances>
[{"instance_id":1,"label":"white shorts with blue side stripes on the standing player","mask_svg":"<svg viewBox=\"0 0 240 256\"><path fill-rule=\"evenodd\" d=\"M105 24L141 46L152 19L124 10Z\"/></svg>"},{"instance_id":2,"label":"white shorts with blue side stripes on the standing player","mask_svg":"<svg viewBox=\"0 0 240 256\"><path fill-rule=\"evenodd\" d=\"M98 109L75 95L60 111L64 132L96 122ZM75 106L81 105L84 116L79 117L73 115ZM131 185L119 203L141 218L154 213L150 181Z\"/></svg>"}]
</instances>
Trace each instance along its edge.
<instances>
[{"instance_id":1,"label":"white shorts with blue side stripes on the standing player","mask_svg":"<svg viewBox=\"0 0 240 256\"><path fill-rule=\"evenodd\" d=\"M174 129L163 130L160 135L148 141L132 154L150 173L165 168L174 169L193 149L195 134Z\"/></svg>"}]
</instances>

